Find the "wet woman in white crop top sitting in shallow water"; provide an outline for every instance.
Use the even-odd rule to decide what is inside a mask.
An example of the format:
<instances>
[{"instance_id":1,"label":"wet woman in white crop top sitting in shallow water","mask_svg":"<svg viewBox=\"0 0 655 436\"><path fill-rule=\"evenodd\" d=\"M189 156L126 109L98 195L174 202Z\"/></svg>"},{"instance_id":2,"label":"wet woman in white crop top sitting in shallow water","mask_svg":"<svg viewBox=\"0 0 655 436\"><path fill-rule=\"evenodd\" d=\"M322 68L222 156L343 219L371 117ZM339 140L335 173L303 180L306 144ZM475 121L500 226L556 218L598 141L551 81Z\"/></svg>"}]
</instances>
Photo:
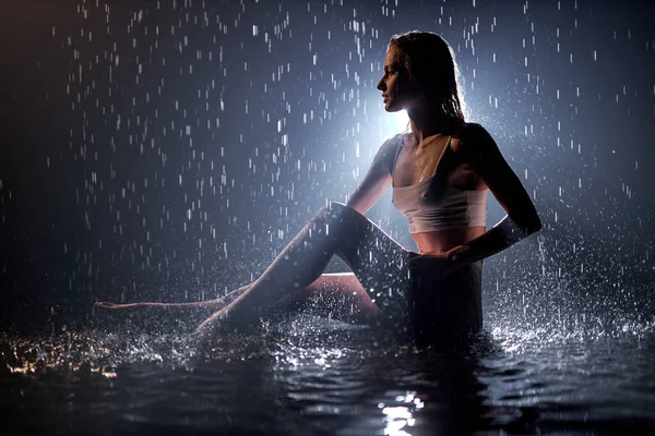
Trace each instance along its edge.
<instances>
[{"instance_id":1,"label":"wet woman in white crop top sitting in shallow water","mask_svg":"<svg viewBox=\"0 0 655 436\"><path fill-rule=\"evenodd\" d=\"M377 88L388 112L407 111L410 132L382 144L347 204L322 207L233 301L187 304L224 305L198 334L245 327L317 294L420 340L481 328L483 259L541 228L534 204L487 131L464 121L457 65L439 35L394 36ZM362 215L390 185L418 253ZM508 215L486 231L489 191ZM322 274L334 254L353 274Z\"/></svg>"}]
</instances>

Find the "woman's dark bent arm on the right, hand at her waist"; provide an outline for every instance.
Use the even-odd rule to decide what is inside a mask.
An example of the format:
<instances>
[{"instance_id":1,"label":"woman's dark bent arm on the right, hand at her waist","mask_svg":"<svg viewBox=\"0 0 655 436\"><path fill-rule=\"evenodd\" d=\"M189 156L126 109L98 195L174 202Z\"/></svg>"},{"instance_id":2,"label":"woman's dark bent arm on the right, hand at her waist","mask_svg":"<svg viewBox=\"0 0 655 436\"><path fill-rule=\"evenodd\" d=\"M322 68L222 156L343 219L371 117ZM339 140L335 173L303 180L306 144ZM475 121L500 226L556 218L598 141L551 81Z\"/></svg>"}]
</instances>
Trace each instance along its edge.
<instances>
[{"instance_id":1,"label":"woman's dark bent arm on the right, hand at her waist","mask_svg":"<svg viewBox=\"0 0 655 436\"><path fill-rule=\"evenodd\" d=\"M450 250L446 257L454 267L491 256L541 229L535 205L491 135L469 124L462 140L460 150L508 215L486 233Z\"/></svg>"}]
</instances>

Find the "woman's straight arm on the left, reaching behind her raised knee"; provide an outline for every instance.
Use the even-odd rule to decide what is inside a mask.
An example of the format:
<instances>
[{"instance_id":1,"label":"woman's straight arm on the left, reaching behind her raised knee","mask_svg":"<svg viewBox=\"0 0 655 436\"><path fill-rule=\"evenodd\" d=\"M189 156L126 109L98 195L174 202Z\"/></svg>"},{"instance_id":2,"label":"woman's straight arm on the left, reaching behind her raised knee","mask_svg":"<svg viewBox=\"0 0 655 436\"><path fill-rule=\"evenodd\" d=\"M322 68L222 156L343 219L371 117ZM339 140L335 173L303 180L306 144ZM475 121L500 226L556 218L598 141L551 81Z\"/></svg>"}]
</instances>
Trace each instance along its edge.
<instances>
[{"instance_id":1,"label":"woman's straight arm on the left, reaching behind her raised knee","mask_svg":"<svg viewBox=\"0 0 655 436\"><path fill-rule=\"evenodd\" d=\"M391 165L395 156L394 146L397 145L395 141L397 138L392 137L382 144L364 180L348 196L347 206L364 215L391 186Z\"/></svg>"}]
</instances>

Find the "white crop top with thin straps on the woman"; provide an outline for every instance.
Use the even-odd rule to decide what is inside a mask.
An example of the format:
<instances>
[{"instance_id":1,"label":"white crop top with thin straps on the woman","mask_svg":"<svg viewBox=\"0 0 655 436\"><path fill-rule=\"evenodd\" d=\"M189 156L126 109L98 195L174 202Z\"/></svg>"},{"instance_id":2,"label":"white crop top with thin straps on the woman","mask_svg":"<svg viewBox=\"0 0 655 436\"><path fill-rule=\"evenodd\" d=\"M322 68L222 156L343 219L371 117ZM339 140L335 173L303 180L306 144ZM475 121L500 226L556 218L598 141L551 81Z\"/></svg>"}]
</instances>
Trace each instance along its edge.
<instances>
[{"instance_id":1,"label":"white crop top with thin straps on the woman","mask_svg":"<svg viewBox=\"0 0 655 436\"><path fill-rule=\"evenodd\" d=\"M403 148L403 135L398 135L398 145L391 165L391 174ZM437 167L450 148L452 136L443 148ZM487 196L489 190L463 191L450 186L436 173L409 186L392 186L392 203L409 221L409 233L434 230L451 230L466 227L487 226Z\"/></svg>"}]
</instances>

